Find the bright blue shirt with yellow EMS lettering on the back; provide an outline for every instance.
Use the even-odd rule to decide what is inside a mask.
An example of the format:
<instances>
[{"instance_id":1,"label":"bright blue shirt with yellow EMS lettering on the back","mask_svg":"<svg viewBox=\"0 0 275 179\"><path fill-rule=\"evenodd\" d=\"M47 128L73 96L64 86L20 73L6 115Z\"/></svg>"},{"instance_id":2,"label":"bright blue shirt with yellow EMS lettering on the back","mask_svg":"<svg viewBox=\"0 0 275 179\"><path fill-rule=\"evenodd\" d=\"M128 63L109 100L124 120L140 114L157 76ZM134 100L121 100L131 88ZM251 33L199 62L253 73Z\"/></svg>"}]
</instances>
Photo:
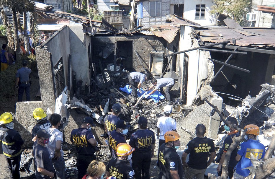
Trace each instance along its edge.
<instances>
[{"instance_id":1,"label":"bright blue shirt with yellow EMS lettering on the back","mask_svg":"<svg viewBox=\"0 0 275 179\"><path fill-rule=\"evenodd\" d=\"M249 170L244 168L252 166L252 163L250 161L250 152L254 155L256 159L260 160L264 157L264 148L265 147L263 144L261 144L259 141L252 139L241 143L237 154L242 157L236 165L236 173L247 177L249 175Z\"/></svg>"}]
</instances>

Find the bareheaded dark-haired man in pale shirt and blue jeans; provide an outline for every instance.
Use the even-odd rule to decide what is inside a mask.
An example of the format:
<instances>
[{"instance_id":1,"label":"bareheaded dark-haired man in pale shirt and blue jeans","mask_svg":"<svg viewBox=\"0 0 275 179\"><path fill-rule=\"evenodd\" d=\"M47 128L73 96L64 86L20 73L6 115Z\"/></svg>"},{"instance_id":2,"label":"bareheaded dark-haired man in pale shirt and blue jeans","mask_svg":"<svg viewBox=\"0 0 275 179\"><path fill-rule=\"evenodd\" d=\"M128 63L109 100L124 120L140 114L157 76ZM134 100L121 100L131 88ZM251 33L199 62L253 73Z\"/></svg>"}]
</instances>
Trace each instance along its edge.
<instances>
[{"instance_id":1,"label":"bareheaded dark-haired man in pale shirt and blue jeans","mask_svg":"<svg viewBox=\"0 0 275 179\"><path fill-rule=\"evenodd\" d=\"M65 179L65 161L63 158L64 152L61 143L63 142L63 134L58 130L61 124L61 116L53 113L50 116L51 127L46 127L45 130L52 136L47 146L50 157L53 162L57 179Z\"/></svg>"}]
</instances>

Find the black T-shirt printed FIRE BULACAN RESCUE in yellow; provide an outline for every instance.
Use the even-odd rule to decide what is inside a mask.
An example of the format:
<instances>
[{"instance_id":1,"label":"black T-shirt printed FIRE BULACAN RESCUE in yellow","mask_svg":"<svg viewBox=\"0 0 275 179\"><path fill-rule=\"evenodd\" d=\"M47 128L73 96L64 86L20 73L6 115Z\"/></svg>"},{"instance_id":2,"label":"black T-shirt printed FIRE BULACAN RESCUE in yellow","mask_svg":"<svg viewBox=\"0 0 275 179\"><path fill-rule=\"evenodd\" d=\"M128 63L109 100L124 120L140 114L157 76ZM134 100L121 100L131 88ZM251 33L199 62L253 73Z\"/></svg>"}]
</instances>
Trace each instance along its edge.
<instances>
[{"instance_id":1,"label":"black T-shirt printed FIRE BULACAN RESCUE in yellow","mask_svg":"<svg viewBox=\"0 0 275 179\"><path fill-rule=\"evenodd\" d=\"M207 168L209 152L215 152L214 142L207 137L196 137L189 141L184 152L189 155L188 166L203 170Z\"/></svg>"}]
</instances>

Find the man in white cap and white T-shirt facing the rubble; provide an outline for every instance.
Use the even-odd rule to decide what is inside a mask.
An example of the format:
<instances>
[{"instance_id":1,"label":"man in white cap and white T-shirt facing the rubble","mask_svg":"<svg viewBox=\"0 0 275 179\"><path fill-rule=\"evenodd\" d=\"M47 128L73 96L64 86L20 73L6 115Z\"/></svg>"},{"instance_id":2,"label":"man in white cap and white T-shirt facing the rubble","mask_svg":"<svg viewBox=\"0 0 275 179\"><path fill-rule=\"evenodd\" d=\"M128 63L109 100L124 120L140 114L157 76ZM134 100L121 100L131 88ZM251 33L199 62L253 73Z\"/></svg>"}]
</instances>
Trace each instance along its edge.
<instances>
[{"instance_id":1,"label":"man in white cap and white T-shirt facing the rubble","mask_svg":"<svg viewBox=\"0 0 275 179\"><path fill-rule=\"evenodd\" d=\"M158 118L157 122L157 136L159 136L159 145L158 149L161 147L164 141L164 134L168 131L176 131L177 125L176 121L170 118L169 116L172 113L172 107L169 105L166 105L163 109L164 116ZM158 137L157 137L158 138Z\"/></svg>"}]
</instances>

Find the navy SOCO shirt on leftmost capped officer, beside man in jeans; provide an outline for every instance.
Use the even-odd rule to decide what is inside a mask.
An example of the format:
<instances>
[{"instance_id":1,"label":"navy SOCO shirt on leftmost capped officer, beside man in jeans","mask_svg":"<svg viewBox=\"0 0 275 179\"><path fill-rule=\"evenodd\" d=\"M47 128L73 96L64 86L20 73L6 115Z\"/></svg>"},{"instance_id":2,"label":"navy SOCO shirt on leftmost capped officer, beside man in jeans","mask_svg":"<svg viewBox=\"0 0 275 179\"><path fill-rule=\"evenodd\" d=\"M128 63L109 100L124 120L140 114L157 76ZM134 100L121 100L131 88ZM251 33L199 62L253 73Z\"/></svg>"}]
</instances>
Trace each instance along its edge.
<instances>
[{"instance_id":1,"label":"navy SOCO shirt on leftmost capped officer, beside man in jeans","mask_svg":"<svg viewBox=\"0 0 275 179\"><path fill-rule=\"evenodd\" d=\"M71 132L71 142L76 146L78 154L94 155L94 147L90 144L89 139L94 139L91 130L79 127Z\"/></svg>"}]
</instances>

